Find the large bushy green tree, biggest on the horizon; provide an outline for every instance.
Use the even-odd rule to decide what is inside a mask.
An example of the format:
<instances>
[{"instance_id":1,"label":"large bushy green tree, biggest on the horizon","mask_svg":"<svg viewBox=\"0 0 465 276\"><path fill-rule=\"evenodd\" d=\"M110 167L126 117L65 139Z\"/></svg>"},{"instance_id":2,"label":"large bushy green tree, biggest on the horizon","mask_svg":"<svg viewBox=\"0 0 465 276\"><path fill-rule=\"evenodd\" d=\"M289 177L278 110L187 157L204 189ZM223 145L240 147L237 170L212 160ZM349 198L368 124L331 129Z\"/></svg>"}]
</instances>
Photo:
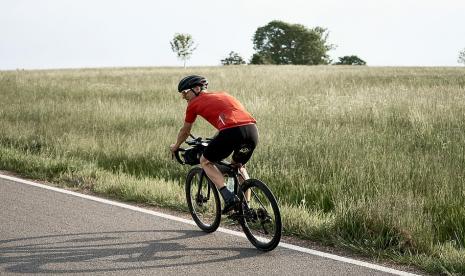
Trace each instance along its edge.
<instances>
[{"instance_id":1,"label":"large bushy green tree, biggest on the horizon","mask_svg":"<svg viewBox=\"0 0 465 276\"><path fill-rule=\"evenodd\" d=\"M321 27L309 29L300 24L271 21L259 27L253 44L257 51L252 64L328 64L328 32Z\"/></svg>"}]
</instances>

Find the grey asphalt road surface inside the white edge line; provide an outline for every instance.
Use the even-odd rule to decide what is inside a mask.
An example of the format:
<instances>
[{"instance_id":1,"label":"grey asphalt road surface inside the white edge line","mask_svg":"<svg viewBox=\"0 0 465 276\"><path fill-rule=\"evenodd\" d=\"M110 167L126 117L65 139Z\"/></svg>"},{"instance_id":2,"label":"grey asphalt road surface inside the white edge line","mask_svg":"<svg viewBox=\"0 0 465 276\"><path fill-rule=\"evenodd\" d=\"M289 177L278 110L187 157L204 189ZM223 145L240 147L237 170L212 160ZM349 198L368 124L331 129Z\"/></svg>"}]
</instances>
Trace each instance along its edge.
<instances>
[{"instance_id":1,"label":"grey asphalt road surface inside the white edge line","mask_svg":"<svg viewBox=\"0 0 465 276\"><path fill-rule=\"evenodd\" d=\"M391 275L0 178L0 275Z\"/></svg>"}]
</instances>

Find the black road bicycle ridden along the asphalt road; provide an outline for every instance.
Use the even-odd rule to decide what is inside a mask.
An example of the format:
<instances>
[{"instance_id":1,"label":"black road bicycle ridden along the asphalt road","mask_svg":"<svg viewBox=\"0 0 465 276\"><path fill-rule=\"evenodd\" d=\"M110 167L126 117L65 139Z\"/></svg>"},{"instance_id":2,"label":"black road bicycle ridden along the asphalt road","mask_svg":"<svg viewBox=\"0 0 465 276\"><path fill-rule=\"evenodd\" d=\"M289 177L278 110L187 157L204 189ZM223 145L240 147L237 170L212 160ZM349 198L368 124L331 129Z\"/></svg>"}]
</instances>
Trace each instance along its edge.
<instances>
[{"instance_id":1,"label":"black road bicycle ridden along the asphalt road","mask_svg":"<svg viewBox=\"0 0 465 276\"><path fill-rule=\"evenodd\" d=\"M221 203L216 186L199 167L200 156L211 139L191 135L174 153L182 165L191 165L186 177L186 200L197 226L207 233L218 229L221 222ZM282 223L278 203L268 186L258 179L247 179L239 184L240 167L225 160L215 165L227 178L227 187L240 199L228 218L239 222L247 239L261 251L271 251L281 240ZM250 191L250 192L248 192Z\"/></svg>"}]
</instances>

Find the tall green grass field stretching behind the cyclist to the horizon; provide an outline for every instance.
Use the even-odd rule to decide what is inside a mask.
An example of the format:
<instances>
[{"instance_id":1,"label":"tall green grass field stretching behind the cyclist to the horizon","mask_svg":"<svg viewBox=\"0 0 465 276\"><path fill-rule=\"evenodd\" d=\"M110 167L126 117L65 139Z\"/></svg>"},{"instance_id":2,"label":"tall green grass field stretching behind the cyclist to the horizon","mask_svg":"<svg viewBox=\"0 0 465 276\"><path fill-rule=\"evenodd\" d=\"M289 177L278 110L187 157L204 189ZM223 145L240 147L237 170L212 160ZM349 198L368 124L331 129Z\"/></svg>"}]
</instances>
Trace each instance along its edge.
<instances>
[{"instance_id":1,"label":"tall green grass field stretching behind the cyclist to the horizon","mask_svg":"<svg viewBox=\"0 0 465 276\"><path fill-rule=\"evenodd\" d=\"M465 69L338 66L0 72L0 170L186 210L168 146L180 78L258 120L249 164L287 234L465 274ZM202 120L194 133L211 136Z\"/></svg>"}]
</instances>

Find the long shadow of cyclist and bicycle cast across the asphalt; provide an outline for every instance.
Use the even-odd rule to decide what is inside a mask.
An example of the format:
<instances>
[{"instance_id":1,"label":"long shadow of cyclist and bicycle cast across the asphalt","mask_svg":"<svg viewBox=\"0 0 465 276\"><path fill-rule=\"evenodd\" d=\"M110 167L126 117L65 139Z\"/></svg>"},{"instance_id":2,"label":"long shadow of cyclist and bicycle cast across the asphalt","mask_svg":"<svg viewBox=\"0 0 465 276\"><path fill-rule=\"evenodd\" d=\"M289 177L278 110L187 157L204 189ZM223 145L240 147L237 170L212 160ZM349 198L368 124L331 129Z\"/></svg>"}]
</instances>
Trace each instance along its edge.
<instances>
[{"instance_id":1,"label":"long shadow of cyclist and bicycle cast across the asphalt","mask_svg":"<svg viewBox=\"0 0 465 276\"><path fill-rule=\"evenodd\" d=\"M0 240L0 267L17 273L92 273L189 267L261 255L253 248L215 246L209 236L198 230L147 230Z\"/></svg>"}]
</instances>

